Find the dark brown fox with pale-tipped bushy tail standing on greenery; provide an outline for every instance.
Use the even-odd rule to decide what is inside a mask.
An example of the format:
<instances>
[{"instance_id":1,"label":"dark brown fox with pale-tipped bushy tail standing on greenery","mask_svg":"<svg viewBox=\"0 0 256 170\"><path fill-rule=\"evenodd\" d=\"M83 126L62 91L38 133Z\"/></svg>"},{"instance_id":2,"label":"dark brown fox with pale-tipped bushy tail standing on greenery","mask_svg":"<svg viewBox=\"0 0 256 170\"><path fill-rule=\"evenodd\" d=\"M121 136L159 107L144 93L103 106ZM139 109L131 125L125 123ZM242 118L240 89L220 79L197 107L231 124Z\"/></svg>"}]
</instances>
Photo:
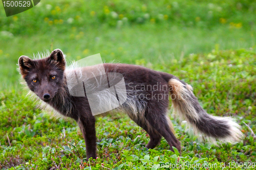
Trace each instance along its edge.
<instances>
[{"instance_id":1,"label":"dark brown fox with pale-tipped bushy tail standing on greenery","mask_svg":"<svg viewBox=\"0 0 256 170\"><path fill-rule=\"evenodd\" d=\"M86 144L87 161L91 157L96 159L96 118L92 114L86 91L84 96L70 93L67 75L77 75L77 70L66 66L63 52L56 49L39 59L20 56L18 67L26 86L36 94L38 100L77 122ZM175 147L181 154L181 142L176 138L174 126L167 116L169 100L172 101L174 114L178 115L176 117L185 120L195 132L207 139L231 143L241 140L243 134L240 125L233 118L209 115L199 104L193 88L176 76L124 63L103 63L103 67L106 73L123 76L127 99L117 109L127 113L150 136L146 148L154 149L164 137L170 150L174 152ZM90 69L80 68L84 72ZM149 86L157 89L145 88ZM147 98L138 98L141 94ZM166 98L156 98L167 94Z\"/></svg>"}]
</instances>

